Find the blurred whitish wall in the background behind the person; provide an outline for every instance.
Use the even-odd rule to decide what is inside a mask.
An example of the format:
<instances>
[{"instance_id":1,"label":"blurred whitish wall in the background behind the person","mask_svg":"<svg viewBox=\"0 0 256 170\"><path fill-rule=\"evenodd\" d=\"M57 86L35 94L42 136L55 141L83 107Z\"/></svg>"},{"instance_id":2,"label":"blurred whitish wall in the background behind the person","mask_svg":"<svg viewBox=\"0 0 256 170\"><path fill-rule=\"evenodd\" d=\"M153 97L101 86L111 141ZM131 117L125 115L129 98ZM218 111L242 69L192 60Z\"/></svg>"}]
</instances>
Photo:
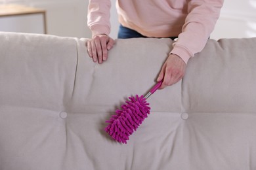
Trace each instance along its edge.
<instances>
[{"instance_id":1,"label":"blurred whitish wall in the background behind the person","mask_svg":"<svg viewBox=\"0 0 256 170\"><path fill-rule=\"evenodd\" d=\"M111 36L115 39L118 21L115 0L111 10ZM64 37L91 37L87 27L88 0L0 0L47 10L47 33ZM256 0L225 0L211 39L256 37Z\"/></svg>"}]
</instances>

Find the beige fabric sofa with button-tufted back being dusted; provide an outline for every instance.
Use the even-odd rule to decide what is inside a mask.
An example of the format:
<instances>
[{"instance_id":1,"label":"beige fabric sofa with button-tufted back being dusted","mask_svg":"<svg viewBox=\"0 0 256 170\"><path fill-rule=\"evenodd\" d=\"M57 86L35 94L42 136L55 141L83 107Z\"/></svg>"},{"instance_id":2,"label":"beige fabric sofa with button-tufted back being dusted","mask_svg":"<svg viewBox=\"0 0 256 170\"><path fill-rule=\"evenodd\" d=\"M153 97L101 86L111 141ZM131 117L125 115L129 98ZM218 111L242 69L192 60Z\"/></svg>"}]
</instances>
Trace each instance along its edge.
<instances>
[{"instance_id":1,"label":"beige fabric sofa with button-tufted back being dusted","mask_svg":"<svg viewBox=\"0 0 256 170\"><path fill-rule=\"evenodd\" d=\"M256 38L210 39L127 144L104 121L154 86L170 39L116 40L102 65L87 39L0 40L1 170L256 169Z\"/></svg>"}]
</instances>

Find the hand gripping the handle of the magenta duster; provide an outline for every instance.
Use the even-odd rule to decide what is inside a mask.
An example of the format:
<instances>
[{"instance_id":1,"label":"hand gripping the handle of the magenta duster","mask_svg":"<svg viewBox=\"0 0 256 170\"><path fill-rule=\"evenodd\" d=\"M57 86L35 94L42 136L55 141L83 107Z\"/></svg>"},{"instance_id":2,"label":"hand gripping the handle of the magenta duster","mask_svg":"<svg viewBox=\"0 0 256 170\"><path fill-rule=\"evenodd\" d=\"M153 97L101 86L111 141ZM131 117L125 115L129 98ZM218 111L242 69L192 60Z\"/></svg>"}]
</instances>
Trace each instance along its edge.
<instances>
[{"instance_id":1,"label":"hand gripping the handle of the magenta duster","mask_svg":"<svg viewBox=\"0 0 256 170\"><path fill-rule=\"evenodd\" d=\"M184 63L184 61L175 54L171 55L163 64L163 67L161 68L160 74L157 79L158 82L163 80L160 89L179 82L179 80L182 79L185 73L186 64Z\"/></svg>"}]
</instances>

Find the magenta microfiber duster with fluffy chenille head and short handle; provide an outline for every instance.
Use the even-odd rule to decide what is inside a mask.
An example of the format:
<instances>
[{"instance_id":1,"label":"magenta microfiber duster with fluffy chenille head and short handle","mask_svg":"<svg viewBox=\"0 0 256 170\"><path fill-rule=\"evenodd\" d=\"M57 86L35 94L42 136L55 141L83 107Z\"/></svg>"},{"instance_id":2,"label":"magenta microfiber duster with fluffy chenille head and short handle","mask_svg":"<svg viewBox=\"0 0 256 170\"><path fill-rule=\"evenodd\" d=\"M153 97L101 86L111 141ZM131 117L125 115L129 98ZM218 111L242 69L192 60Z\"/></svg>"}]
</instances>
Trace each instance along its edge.
<instances>
[{"instance_id":1,"label":"magenta microfiber duster with fluffy chenille head and short handle","mask_svg":"<svg viewBox=\"0 0 256 170\"><path fill-rule=\"evenodd\" d=\"M126 104L121 106L121 110L116 110L116 115L112 115L110 120L106 121L106 123L109 123L105 128L106 133L119 143L127 143L129 135L133 134L150 114L149 103L146 99L156 92L160 86L161 82L158 82L145 96L129 97L129 100L125 101Z\"/></svg>"}]
</instances>

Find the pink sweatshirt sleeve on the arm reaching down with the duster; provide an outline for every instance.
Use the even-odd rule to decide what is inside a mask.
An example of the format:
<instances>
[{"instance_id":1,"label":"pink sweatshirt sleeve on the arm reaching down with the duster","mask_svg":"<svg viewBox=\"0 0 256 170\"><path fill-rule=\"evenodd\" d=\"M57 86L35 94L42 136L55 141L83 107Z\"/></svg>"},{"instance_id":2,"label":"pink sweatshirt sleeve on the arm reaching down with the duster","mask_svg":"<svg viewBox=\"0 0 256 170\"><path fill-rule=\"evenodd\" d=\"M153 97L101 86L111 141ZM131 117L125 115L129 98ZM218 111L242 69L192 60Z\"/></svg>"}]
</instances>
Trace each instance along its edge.
<instances>
[{"instance_id":1,"label":"pink sweatshirt sleeve on the arm reaching down with the duster","mask_svg":"<svg viewBox=\"0 0 256 170\"><path fill-rule=\"evenodd\" d=\"M224 0L190 0L188 15L171 54L177 54L185 63L201 52L219 18Z\"/></svg>"}]
</instances>

